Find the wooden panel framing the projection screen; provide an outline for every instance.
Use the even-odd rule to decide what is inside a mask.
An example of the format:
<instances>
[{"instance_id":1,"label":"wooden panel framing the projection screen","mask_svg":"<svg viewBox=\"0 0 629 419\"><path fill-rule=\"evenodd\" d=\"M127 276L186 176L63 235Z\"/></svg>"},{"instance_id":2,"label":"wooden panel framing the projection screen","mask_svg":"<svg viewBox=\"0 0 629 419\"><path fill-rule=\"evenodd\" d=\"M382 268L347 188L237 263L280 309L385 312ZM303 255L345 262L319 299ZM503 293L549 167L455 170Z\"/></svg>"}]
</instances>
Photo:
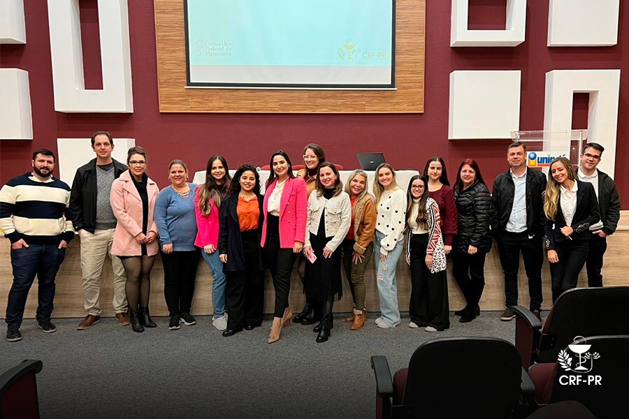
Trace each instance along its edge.
<instances>
[{"instance_id":1,"label":"wooden panel framing the projection screen","mask_svg":"<svg viewBox=\"0 0 629 419\"><path fill-rule=\"evenodd\" d=\"M396 87L389 91L186 89L181 0L154 0L160 112L424 112L426 0L396 1Z\"/></svg>"}]
</instances>

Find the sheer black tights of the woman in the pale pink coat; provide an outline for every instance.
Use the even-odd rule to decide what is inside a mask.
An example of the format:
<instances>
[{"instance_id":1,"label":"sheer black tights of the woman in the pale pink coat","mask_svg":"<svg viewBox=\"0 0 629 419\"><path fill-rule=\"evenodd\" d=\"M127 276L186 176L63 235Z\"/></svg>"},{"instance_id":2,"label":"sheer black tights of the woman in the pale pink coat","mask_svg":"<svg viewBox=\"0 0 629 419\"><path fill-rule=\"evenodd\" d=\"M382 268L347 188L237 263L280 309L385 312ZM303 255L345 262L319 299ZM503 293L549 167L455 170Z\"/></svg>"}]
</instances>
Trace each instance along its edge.
<instances>
[{"instance_id":1,"label":"sheer black tights of the woman in the pale pink coat","mask_svg":"<svg viewBox=\"0 0 629 419\"><path fill-rule=\"evenodd\" d=\"M122 259L126 272L126 300L129 310L138 311L140 307L148 307L151 294L151 270L155 256L131 256Z\"/></svg>"}]
</instances>

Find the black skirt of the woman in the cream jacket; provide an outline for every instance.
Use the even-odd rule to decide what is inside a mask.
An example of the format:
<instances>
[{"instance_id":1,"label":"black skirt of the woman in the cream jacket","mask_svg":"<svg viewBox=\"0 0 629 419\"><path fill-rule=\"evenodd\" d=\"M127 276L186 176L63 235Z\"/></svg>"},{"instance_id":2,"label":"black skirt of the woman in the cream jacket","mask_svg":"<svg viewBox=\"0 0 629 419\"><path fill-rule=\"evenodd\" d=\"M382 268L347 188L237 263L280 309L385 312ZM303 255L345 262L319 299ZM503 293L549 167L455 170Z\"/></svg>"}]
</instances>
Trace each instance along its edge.
<instances>
[{"instance_id":1,"label":"black skirt of the woman in the cream jacket","mask_svg":"<svg viewBox=\"0 0 629 419\"><path fill-rule=\"evenodd\" d=\"M310 245L317 256L315 263L306 261L305 289L308 298L317 301L334 301L342 298L341 247L337 247L331 258L324 258L323 249L332 237L321 237L310 233Z\"/></svg>"}]
</instances>

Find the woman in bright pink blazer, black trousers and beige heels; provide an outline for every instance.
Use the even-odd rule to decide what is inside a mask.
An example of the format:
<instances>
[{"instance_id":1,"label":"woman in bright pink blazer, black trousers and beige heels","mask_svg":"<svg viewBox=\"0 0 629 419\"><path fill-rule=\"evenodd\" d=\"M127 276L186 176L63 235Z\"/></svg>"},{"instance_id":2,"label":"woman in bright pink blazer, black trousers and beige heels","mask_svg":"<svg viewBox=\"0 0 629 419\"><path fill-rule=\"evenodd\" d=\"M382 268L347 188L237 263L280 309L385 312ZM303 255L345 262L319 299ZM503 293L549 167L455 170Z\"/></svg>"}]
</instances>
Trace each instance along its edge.
<instances>
[{"instance_id":1,"label":"woman in bright pink blazer, black trousers and beige heels","mask_svg":"<svg viewBox=\"0 0 629 419\"><path fill-rule=\"evenodd\" d=\"M305 242L308 193L304 180L293 174L288 154L282 150L275 152L270 166L264 194L261 246L275 288L275 313L268 335L268 343L273 344L280 340L284 324L290 324L293 318L288 303L291 270Z\"/></svg>"}]
</instances>

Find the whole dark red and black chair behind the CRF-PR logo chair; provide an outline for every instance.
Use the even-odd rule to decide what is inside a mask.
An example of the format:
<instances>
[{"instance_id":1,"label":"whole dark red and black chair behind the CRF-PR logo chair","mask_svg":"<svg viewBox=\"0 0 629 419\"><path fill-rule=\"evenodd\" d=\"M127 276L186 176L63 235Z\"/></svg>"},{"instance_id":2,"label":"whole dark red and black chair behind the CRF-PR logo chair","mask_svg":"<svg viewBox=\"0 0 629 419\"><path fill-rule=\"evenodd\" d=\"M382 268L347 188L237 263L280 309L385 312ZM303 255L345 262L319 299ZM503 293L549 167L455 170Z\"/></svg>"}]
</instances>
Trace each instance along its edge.
<instances>
[{"instance_id":1,"label":"whole dark red and black chair behind the CRF-PR logo chair","mask_svg":"<svg viewBox=\"0 0 629 419\"><path fill-rule=\"evenodd\" d=\"M629 286L573 288L561 294L542 323L528 309L516 315L516 348L522 365L555 362L576 336L629 335Z\"/></svg>"}]
</instances>

